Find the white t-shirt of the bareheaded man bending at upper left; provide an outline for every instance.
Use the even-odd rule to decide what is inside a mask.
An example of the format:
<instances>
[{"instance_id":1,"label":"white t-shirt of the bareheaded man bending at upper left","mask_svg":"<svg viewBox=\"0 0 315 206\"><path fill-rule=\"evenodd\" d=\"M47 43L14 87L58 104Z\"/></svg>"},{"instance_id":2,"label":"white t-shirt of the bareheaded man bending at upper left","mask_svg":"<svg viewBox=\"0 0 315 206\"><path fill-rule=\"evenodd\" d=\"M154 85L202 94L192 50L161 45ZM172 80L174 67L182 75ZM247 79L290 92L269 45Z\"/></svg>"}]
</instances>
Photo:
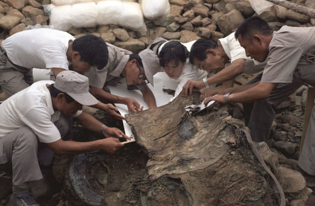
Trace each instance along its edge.
<instances>
[{"instance_id":1,"label":"white t-shirt of the bareheaded man bending at upper left","mask_svg":"<svg viewBox=\"0 0 315 206\"><path fill-rule=\"evenodd\" d=\"M32 68L63 68L68 70L66 57L69 40L75 38L55 29L31 29L3 40L1 47L16 65Z\"/></svg>"}]
</instances>

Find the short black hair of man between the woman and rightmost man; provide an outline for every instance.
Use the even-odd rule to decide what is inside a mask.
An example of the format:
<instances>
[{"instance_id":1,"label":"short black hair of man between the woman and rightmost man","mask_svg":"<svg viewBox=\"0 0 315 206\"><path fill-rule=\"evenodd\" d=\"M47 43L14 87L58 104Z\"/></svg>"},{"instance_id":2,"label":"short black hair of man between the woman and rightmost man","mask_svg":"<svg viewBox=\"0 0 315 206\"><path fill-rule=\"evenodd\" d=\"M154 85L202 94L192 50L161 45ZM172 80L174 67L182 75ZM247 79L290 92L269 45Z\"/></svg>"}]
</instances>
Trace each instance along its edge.
<instances>
[{"instance_id":1,"label":"short black hair of man between the woman and rightmost man","mask_svg":"<svg viewBox=\"0 0 315 206\"><path fill-rule=\"evenodd\" d=\"M206 39L198 39L193 45L191 46L190 53L189 53L189 61L193 64L193 59L197 58L198 60L202 61L207 59L207 50L208 49L216 49L218 45L213 43L210 40Z\"/></svg>"}]
</instances>

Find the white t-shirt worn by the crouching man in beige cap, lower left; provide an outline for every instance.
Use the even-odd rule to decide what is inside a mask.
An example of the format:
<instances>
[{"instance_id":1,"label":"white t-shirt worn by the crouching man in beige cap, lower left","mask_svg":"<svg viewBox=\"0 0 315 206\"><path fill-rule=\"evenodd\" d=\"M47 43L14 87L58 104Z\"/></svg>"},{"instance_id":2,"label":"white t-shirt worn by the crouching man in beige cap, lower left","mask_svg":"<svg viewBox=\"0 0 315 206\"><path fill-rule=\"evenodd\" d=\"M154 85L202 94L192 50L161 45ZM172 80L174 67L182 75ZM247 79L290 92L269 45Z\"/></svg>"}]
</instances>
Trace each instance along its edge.
<instances>
[{"instance_id":1,"label":"white t-shirt worn by the crouching man in beige cap, lower left","mask_svg":"<svg viewBox=\"0 0 315 206\"><path fill-rule=\"evenodd\" d=\"M52 143L61 139L54 124L60 118L60 112L54 111L46 84L54 82L36 82L0 104L0 138L22 126L28 126L37 135L39 142ZM78 111L72 117L81 113Z\"/></svg>"}]
</instances>

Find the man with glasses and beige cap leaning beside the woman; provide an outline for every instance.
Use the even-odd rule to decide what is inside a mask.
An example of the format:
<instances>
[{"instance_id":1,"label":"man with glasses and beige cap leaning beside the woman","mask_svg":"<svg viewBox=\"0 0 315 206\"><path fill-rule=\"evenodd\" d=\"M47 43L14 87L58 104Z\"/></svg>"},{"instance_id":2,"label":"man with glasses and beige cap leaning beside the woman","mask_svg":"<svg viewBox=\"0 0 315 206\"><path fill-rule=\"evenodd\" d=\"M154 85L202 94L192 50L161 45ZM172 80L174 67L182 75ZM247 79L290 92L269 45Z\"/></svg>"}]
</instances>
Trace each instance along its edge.
<instances>
[{"instance_id":1,"label":"man with glasses and beige cap leaning beside the woman","mask_svg":"<svg viewBox=\"0 0 315 206\"><path fill-rule=\"evenodd\" d=\"M132 54L125 49L106 44L108 48L107 65L102 70L91 68L89 73L84 74L89 78L91 93L106 103L125 104L129 112L140 111L142 107L135 99L107 92L107 86L113 86L125 77L127 85L135 85L140 89L150 109L157 107L154 94L146 83L150 82L153 86L153 75L160 69L158 56L148 49L139 54Z\"/></svg>"}]
</instances>

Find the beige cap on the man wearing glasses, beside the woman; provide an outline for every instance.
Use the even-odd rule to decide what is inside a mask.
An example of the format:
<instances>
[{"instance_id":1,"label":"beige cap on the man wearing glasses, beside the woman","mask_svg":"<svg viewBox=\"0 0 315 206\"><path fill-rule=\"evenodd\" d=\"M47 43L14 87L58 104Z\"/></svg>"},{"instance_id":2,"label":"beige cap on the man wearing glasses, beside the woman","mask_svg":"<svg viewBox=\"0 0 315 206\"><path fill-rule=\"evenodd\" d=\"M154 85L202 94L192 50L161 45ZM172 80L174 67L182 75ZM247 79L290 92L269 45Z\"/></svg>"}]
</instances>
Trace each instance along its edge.
<instances>
[{"instance_id":1,"label":"beige cap on the man wearing glasses, beside the woman","mask_svg":"<svg viewBox=\"0 0 315 206\"><path fill-rule=\"evenodd\" d=\"M161 69L158 55L156 55L151 49L145 49L139 53L139 56L142 59L144 74L151 85L154 86L153 76Z\"/></svg>"}]
</instances>

